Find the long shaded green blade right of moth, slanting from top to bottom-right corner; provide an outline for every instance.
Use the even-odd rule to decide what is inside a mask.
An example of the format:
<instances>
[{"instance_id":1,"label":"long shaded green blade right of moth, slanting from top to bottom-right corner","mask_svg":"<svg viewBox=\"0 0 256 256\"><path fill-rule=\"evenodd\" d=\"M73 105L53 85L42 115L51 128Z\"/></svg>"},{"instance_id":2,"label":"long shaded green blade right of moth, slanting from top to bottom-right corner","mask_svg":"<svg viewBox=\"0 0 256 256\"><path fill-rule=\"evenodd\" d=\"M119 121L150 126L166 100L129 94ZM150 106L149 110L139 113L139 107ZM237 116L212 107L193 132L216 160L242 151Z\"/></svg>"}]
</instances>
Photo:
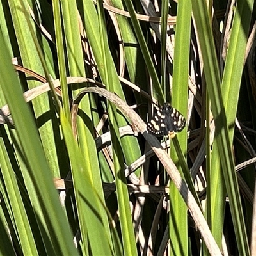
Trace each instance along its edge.
<instances>
[{"instance_id":1,"label":"long shaded green blade right of moth, slanting from top to bottom-right corner","mask_svg":"<svg viewBox=\"0 0 256 256\"><path fill-rule=\"evenodd\" d=\"M243 6L243 4L241 5ZM241 6L237 7L241 8ZM237 10L242 12L243 8ZM245 232L241 200L234 171L230 140L228 138L227 115L221 95L220 72L218 70L216 52L214 51L211 22L206 4L202 1L193 1L193 13L195 16L196 27L198 31L202 32L198 33L198 36L200 47L202 49L205 78L211 99L212 113L215 118L218 154L220 155L228 196L233 199L230 201L230 209L232 212L232 219L234 221L237 246L241 255L248 255L249 248ZM241 15L241 13L239 15Z\"/></svg>"}]
</instances>

